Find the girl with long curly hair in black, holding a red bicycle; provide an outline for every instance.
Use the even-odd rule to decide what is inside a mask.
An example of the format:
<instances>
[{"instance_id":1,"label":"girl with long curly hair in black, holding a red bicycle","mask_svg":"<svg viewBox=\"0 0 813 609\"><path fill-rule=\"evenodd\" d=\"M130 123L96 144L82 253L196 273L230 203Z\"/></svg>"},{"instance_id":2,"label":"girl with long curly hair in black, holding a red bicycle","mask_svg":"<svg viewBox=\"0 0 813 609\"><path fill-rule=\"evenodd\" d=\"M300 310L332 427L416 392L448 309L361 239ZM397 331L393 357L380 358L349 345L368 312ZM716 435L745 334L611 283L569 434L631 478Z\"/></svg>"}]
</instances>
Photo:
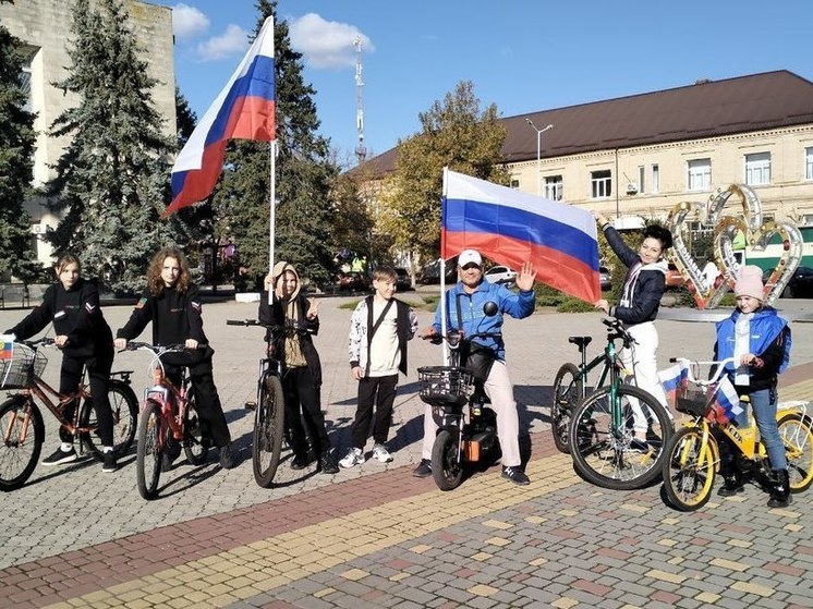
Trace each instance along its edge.
<instances>
[{"instance_id":1,"label":"girl with long curly hair in black, holding a red bicycle","mask_svg":"<svg viewBox=\"0 0 813 609\"><path fill-rule=\"evenodd\" d=\"M192 283L186 256L173 247L165 247L153 256L147 270L147 289L135 304L126 325L116 333L116 348L124 349L153 322L153 343L185 344L190 351L167 354L162 361L167 376L175 385L180 381L180 366L190 369L192 386L201 415L201 431L205 440L220 448L220 465L230 470L236 465L231 452L231 435L226 423L220 397L215 387L211 356L203 330L201 297ZM198 346L201 349L198 349ZM168 471L181 454L177 443L168 447L161 468Z\"/></svg>"}]
</instances>

